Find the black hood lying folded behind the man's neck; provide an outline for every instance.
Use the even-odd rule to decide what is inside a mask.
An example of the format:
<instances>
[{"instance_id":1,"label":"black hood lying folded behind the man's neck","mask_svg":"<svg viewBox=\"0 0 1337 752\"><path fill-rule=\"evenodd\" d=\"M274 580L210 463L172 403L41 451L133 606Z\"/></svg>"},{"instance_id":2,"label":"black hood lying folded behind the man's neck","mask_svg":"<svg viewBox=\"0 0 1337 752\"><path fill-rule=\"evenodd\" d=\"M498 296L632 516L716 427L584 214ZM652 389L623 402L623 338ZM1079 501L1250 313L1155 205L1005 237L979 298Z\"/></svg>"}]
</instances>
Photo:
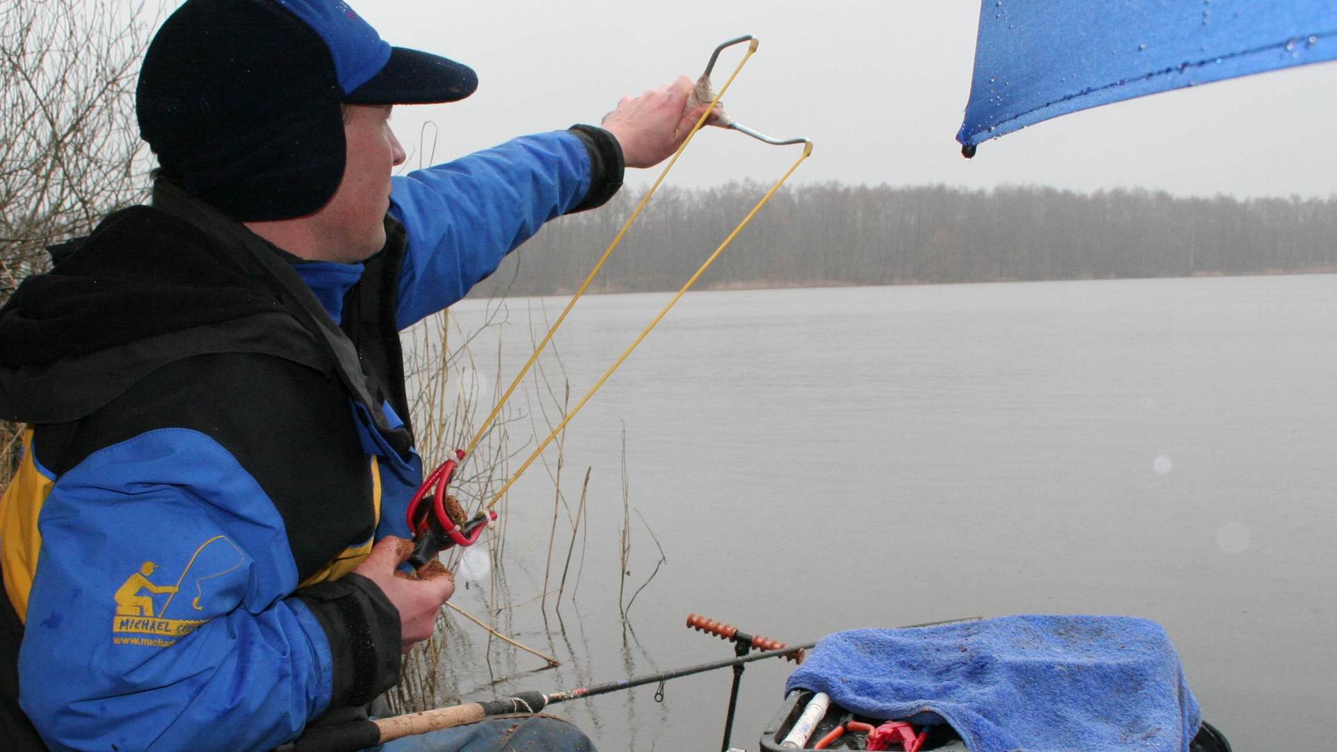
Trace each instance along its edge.
<instances>
[{"instance_id":1,"label":"black hood lying folded behind the man's neck","mask_svg":"<svg viewBox=\"0 0 1337 752\"><path fill-rule=\"evenodd\" d=\"M389 423L377 379L281 250L170 181L152 201L57 249L56 268L0 309L0 419L78 420L168 363L249 352L336 375L386 442L410 451L412 431ZM406 240L389 218L386 238L392 253L378 257L396 260L393 284Z\"/></svg>"}]
</instances>

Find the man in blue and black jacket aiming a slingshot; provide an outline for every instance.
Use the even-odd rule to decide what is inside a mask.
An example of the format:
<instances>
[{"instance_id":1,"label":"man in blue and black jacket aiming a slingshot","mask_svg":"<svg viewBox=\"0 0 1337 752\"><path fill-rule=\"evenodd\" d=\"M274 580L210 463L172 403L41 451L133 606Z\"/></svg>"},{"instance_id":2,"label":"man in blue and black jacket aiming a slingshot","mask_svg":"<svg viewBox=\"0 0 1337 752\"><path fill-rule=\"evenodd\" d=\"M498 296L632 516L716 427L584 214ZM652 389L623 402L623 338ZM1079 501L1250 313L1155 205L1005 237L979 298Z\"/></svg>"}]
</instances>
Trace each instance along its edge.
<instances>
[{"instance_id":1,"label":"man in blue and black jacket aiming a slingshot","mask_svg":"<svg viewBox=\"0 0 1337 752\"><path fill-rule=\"evenodd\" d=\"M330 0L187 0L163 24L136 102L151 205L52 249L0 310L0 417L28 424L0 506L5 749L271 749L431 634L453 582L398 571L421 463L397 332L702 112L679 79L602 128L392 181L390 106L475 86ZM591 748L543 719L432 744Z\"/></svg>"}]
</instances>

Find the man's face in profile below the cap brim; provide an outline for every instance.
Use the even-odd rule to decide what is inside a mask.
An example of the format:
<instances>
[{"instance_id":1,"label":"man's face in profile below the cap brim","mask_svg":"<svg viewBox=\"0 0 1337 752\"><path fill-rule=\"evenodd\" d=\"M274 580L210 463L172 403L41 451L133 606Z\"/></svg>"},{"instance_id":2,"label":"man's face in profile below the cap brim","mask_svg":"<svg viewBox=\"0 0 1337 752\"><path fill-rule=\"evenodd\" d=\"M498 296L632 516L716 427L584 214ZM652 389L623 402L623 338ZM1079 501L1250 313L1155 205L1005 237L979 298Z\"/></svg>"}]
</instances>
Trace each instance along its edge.
<instances>
[{"instance_id":1,"label":"man's face in profile below the cap brim","mask_svg":"<svg viewBox=\"0 0 1337 752\"><path fill-rule=\"evenodd\" d=\"M362 261L385 245L382 219L390 206L390 173L405 159L389 119L389 106L346 106L344 179L314 215L325 246L338 249L333 261Z\"/></svg>"}]
</instances>

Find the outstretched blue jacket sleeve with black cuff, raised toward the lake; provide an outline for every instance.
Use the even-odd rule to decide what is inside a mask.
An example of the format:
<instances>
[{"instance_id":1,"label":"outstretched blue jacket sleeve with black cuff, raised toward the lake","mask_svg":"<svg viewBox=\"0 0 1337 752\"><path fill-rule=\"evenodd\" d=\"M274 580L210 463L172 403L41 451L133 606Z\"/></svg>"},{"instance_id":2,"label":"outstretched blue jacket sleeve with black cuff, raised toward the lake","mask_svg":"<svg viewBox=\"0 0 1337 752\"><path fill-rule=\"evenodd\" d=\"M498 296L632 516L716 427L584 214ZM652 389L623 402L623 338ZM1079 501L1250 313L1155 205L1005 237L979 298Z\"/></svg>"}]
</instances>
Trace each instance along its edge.
<instances>
[{"instance_id":1,"label":"outstretched blue jacket sleeve with black cuff, raised toward the lake","mask_svg":"<svg viewBox=\"0 0 1337 752\"><path fill-rule=\"evenodd\" d=\"M400 329L463 298L548 219L608 201L622 174L611 134L572 126L394 178L390 215L409 238Z\"/></svg>"}]
</instances>

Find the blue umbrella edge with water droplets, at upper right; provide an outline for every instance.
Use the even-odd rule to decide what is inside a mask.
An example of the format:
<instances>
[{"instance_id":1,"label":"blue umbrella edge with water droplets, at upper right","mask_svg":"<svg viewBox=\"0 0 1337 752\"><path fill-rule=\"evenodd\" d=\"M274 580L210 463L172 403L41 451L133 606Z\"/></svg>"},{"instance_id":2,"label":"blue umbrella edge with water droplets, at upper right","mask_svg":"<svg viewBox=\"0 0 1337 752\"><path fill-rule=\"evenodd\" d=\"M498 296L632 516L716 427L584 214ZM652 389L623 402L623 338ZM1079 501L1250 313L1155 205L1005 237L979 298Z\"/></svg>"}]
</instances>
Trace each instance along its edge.
<instances>
[{"instance_id":1,"label":"blue umbrella edge with water droplets, at upper right","mask_svg":"<svg viewBox=\"0 0 1337 752\"><path fill-rule=\"evenodd\" d=\"M961 154L1059 115L1337 58L1334 0L983 0Z\"/></svg>"}]
</instances>

